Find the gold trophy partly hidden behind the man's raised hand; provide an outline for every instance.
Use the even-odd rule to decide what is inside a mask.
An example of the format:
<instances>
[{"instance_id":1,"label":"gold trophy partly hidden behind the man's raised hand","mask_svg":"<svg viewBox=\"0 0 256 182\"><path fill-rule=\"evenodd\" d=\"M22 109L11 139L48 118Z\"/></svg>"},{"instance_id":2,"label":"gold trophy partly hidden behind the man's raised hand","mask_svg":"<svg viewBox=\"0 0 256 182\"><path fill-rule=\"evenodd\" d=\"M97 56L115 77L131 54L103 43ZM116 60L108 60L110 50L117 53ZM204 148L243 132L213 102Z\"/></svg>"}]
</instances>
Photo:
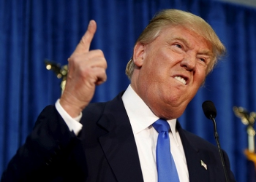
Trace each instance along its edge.
<instances>
[{"instance_id":1,"label":"gold trophy partly hidden behind the man's raised hand","mask_svg":"<svg viewBox=\"0 0 256 182\"><path fill-rule=\"evenodd\" d=\"M53 61L45 60L45 66L46 69L53 71L58 79L62 79L60 84L62 94L66 86L67 65L61 66L61 64L59 63L54 63Z\"/></svg>"}]
</instances>

